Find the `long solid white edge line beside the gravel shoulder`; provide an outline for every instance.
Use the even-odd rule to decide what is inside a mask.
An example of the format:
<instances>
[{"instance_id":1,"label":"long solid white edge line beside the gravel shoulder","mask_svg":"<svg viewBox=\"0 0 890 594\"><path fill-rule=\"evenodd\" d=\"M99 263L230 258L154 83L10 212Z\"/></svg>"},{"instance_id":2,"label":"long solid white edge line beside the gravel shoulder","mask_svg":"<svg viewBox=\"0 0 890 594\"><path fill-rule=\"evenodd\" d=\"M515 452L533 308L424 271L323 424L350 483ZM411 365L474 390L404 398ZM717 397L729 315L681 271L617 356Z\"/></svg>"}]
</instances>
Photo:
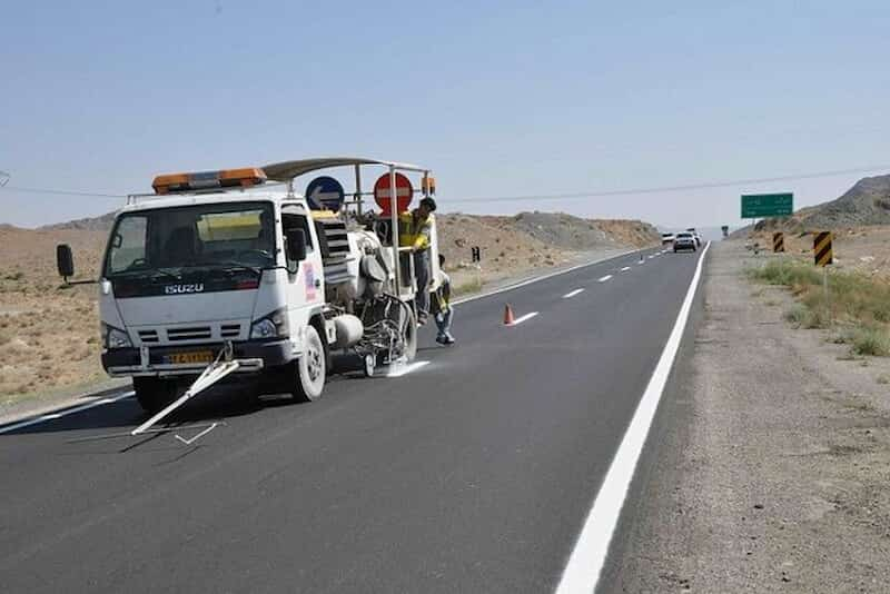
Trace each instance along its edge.
<instances>
[{"instance_id":1,"label":"long solid white edge line beside the gravel shoulder","mask_svg":"<svg viewBox=\"0 0 890 594\"><path fill-rule=\"evenodd\" d=\"M640 399L640 404L636 406L636 412L609 467L609 473L606 473L603 485L600 487L600 493L593 501L593 507L591 507L587 518L584 521L584 526L581 528L575 547L572 550L568 563L566 563L563 571L560 585L556 587L556 594L593 592L596 588L600 572L609 554L609 544L612 542L612 535L615 532L615 525L619 522L627 488L633 479L636 462L640 459L640 454L649 435L649 428L652 425L661 395L668 383L668 376L680 348L680 340L686 327L689 313L695 297L695 289L699 286L699 278L701 278L704 255L708 254L710 246L710 242L705 245L699 257L695 274L692 275L692 281L686 290L683 305L680 306L674 327L668 337L668 343L664 345L664 350L662 350L659 363L655 365L655 370L652 372L649 385Z\"/></svg>"}]
</instances>

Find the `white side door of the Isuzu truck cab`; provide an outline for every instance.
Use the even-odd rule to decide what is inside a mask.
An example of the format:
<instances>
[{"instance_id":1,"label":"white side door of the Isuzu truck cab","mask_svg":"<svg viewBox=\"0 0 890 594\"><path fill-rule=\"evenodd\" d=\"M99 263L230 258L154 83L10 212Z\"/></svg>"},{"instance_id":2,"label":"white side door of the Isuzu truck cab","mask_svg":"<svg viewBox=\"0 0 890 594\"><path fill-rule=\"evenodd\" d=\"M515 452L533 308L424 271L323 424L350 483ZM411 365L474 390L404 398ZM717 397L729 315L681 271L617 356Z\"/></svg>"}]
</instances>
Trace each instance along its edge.
<instances>
[{"instance_id":1,"label":"white side door of the Isuzu truck cab","mask_svg":"<svg viewBox=\"0 0 890 594\"><path fill-rule=\"evenodd\" d=\"M291 229L300 229L306 236L306 258L288 261L287 313L290 319L290 336L301 343L301 329L309 323L313 311L325 303L324 267L318 238L315 235L309 215L301 205L281 206L281 229L285 237ZM285 250L285 258L288 258Z\"/></svg>"}]
</instances>

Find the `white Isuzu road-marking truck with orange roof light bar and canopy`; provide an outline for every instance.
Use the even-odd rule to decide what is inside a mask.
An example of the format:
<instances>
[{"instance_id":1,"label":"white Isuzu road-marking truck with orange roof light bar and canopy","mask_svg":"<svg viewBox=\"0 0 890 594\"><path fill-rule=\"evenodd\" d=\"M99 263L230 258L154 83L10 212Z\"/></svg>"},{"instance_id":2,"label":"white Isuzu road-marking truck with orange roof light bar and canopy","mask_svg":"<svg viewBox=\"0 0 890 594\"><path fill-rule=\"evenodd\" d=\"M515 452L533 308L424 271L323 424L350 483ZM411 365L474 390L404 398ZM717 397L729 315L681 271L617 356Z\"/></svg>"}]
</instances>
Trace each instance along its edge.
<instances>
[{"instance_id":1,"label":"white Isuzu road-marking truck with orange roof light bar and canopy","mask_svg":"<svg viewBox=\"0 0 890 594\"><path fill-rule=\"evenodd\" d=\"M362 190L367 167L388 176L375 196L384 214L363 208L374 194ZM336 210L294 191L295 178L327 168L355 176L352 199ZM422 189L406 192L399 176L419 176ZM335 354L353 355L353 369L367 375L414 358L415 296L435 283L417 287L411 248L398 247L398 208L389 206L394 194L399 202L433 194L429 169L319 158L158 176L152 186L154 195L129 196L117 215L98 279L102 366L132 377L147 412L166 410L189 386L204 389L222 362L228 367L209 383L253 374L269 392L314 400L336 372ZM431 245L436 279L435 220ZM58 246L57 259L68 281L70 247Z\"/></svg>"}]
</instances>

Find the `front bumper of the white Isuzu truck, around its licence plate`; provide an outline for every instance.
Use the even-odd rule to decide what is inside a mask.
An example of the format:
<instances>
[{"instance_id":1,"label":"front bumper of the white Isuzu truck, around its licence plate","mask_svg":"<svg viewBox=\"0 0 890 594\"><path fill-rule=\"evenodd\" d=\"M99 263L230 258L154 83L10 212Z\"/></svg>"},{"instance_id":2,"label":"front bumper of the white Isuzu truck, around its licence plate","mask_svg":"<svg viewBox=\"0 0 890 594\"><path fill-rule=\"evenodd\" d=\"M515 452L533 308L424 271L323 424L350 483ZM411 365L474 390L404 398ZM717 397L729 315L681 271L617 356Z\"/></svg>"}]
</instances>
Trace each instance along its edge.
<instances>
[{"instance_id":1,"label":"front bumper of the white Isuzu truck, around its licence plate","mask_svg":"<svg viewBox=\"0 0 890 594\"><path fill-rule=\"evenodd\" d=\"M233 343L233 358L240 362L239 373L260 372L286 365L296 358L290 340L246 340ZM222 349L218 343L206 345L113 348L102 353L102 367L112 377L200 374L207 363L169 363L171 355Z\"/></svg>"}]
</instances>

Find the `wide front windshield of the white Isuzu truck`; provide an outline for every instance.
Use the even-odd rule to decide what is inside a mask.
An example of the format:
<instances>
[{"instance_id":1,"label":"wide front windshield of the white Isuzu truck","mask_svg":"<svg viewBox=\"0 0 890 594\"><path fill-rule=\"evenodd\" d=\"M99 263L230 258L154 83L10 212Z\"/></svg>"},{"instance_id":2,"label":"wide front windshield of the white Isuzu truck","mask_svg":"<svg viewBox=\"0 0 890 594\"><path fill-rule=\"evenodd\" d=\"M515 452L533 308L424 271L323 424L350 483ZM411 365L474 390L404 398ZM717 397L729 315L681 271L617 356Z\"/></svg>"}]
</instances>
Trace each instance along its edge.
<instances>
[{"instance_id":1,"label":"wide front windshield of the white Isuzu truck","mask_svg":"<svg viewBox=\"0 0 890 594\"><path fill-rule=\"evenodd\" d=\"M275 265L271 204L158 208L118 218L105 276L179 277L200 269L259 274Z\"/></svg>"}]
</instances>

